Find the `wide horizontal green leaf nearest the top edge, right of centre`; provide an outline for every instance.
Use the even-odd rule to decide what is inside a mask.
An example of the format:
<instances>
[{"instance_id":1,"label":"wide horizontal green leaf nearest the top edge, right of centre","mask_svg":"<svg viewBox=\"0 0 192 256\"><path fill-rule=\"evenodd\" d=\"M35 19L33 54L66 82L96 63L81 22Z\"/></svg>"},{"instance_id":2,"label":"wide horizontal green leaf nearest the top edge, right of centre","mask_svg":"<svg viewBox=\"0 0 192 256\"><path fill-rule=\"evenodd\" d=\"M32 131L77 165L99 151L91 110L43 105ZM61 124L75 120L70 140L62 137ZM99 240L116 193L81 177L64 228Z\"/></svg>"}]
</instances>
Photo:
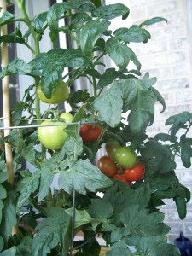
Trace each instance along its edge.
<instances>
[{"instance_id":1,"label":"wide horizontal green leaf nearest the top edge, right of centre","mask_svg":"<svg viewBox=\"0 0 192 256\"><path fill-rule=\"evenodd\" d=\"M108 4L96 8L92 15L100 19L112 20L122 15L129 15L130 9L122 3Z\"/></svg>"}]
</instances>

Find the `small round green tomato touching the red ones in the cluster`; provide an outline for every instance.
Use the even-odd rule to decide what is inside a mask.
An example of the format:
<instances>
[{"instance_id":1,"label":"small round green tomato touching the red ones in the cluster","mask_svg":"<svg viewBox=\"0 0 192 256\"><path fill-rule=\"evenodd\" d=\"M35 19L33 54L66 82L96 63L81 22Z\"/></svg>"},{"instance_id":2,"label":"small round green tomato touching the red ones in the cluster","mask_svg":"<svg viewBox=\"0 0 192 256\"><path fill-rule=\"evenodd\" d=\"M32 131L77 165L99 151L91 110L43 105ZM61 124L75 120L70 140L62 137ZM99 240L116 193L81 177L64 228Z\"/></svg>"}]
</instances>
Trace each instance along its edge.
<instances>
[{"instance_id":1,"label":"small round green tomato touching the red ones in the cluster","mask_svg":"<svg viewBox=\"0 0 192 256\"><path fill-rule=\"evenodd\" d=\"M137 164L137 154L131 147L117 148L114 159L124 168L131 168Z\"/></svg>"}]
</instances>

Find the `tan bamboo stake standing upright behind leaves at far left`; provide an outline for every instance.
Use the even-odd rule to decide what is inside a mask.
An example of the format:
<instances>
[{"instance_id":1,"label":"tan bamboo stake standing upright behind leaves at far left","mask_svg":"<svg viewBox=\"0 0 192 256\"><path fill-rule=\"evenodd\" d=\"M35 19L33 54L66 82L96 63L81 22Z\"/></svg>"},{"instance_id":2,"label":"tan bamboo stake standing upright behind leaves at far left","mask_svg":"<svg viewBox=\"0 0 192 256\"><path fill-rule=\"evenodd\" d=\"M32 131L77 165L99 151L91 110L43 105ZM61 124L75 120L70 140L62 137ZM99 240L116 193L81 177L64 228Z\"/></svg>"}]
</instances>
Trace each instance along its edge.
<instances>
[{"instance_id":1,"label":"tan bamboo stake standing upright behind leaves at far left","mask_svg":"<svg viewBox=\"0 0 192 256\"><path fill-rule=\"evenodd\" d=\"M0 7L2 8L0 15L6 11L6 0L0 0ZM7 26L1 26L1 35L7 35ZM2 49L2 68L8 66L8 44L3 42L1 44ZM3 116L10 118L10 101L9 101L9 77L6 76L2 79L2 89L3 89ZM4 119L3 121L4 127L10 126L10 119ZM9 130L4 130L4 136L9 135ZM9 173L8 182L11 185L14 185L14 169L13 169L13 154L11 145L5 143L5 158L7 169ZM17 226L13 226L12 235L17 234Z\"/></svg>"}]
</instances>

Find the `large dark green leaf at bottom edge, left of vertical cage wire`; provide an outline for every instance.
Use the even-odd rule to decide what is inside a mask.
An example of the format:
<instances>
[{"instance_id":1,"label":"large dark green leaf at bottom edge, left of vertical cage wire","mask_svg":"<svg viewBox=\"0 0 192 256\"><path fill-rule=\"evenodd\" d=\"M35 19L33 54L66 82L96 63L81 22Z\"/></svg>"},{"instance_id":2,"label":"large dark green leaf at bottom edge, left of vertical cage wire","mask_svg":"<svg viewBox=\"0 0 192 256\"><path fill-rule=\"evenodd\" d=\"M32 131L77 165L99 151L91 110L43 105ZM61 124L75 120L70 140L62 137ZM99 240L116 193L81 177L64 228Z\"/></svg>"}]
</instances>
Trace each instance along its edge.
<instances>
[{"instance_id":1,"label":"large dark green leaf at bottom edge, left of vertical cage wire","mask_svg":"<svg viewBox=\"0 0 192 256\"><path fill-rule=\"evenodd\" d=\"M71 218L62 208L49 208L47 214L48 217L36 227L38 233L32 241L32 255L46 256L58 244L63 247L62 253L67 255Z\"/></svg>"}]
</instances>

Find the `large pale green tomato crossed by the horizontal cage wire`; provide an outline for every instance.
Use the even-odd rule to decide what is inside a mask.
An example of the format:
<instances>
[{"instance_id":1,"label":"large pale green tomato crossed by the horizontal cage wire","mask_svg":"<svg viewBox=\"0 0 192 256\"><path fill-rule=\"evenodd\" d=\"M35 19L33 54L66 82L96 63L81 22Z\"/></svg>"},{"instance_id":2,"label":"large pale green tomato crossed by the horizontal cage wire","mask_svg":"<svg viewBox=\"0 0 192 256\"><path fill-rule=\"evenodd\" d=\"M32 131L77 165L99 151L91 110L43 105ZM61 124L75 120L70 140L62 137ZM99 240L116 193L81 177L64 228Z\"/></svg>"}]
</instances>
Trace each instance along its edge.
<instances>
[{"instance_id":1,"label":"large pale green tomato crossed by the horizontal cage wire","mask_svg":"<svg viewBox=\"0 0 192 256\"><path fill-rule=\"evenodd\" d=\"M60 149L67 140L68 134L65 130L66 125L62 122L53 122L46 120L41 125L55 125L57 126L44 126L38 127L38 139L45 148Z\"/></svg>"}]
</instances>

